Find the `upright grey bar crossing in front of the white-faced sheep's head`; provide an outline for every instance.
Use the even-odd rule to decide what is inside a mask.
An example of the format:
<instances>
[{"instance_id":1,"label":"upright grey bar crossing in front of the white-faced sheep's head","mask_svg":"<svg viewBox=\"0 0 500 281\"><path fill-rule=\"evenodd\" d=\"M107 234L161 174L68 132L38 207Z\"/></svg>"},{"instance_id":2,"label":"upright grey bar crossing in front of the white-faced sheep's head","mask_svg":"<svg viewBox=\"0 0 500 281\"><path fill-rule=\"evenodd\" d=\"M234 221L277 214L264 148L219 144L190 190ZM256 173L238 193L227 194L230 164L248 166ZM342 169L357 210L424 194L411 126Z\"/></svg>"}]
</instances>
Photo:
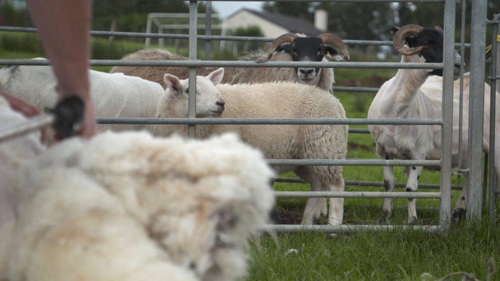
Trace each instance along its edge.
<instances>
[{"instance_id":1,"label":"upright grey bar crossing in front of the white-faced sheep's head","mask_svg":"<svg viewBox=\"0 0 500 281\"><path fill-rule=\"evenodd\" d=\"M197 56L197 25L198 2L189 2L189 59L196 60ZM189 68L188 85L188 118L196 118L196 67ZM188 136L196 138L196 125L188 125Z\"/></svg>"}]
</instances>

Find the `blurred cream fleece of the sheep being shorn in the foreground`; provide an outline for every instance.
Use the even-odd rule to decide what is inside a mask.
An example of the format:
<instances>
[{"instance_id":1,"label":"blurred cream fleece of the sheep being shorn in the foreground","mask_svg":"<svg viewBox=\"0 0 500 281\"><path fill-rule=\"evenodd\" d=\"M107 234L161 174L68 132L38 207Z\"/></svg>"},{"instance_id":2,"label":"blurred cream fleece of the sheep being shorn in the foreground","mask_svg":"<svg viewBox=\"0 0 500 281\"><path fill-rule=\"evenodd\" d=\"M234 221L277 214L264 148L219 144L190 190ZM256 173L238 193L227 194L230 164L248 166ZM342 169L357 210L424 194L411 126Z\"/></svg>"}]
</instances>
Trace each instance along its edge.
<instances>
[{"instance_id":1,"label":"blurred cream fleece of the sheep being shorn in the foreground","mask_svg":"<svg viewBox=\"0 0 500 281\"><path fill-rule=\"evenodd\" d=\"M2 124L24 120L0 103ZM17 205L0 225L0 279L12 281L240 278L274 203L262 154L232 135L107 132L45 150L31 134L0 158Z\"/></svg>"}]
</instances>

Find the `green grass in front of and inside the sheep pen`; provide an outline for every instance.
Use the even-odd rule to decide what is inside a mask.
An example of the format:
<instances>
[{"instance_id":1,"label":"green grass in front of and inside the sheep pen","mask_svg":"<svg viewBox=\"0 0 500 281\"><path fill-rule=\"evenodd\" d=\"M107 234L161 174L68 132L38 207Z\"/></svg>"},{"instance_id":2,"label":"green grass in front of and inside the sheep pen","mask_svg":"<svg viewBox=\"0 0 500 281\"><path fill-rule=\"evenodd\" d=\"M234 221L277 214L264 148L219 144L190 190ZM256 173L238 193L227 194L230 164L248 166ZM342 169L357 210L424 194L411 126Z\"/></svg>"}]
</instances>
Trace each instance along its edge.
<instances>
[{"instance_id":1,"label":"green grass in front of and inside the sheep pen","mask_svg":"<svg viewBox=\"0 0 500 281\"><path fill-rule=\"evenodd\" d=\"M119 43L122 44L122 43ZM123 43L127 44L127 43ZM133 43L135 44L135 43ZM135 48L136 46L134 46ZM137 46L138 48L139 46ZM132 49L134 49L132 48ZM0 49L0 58L33 58L35 52ZM109 67L94 67L108 71ZM391 77L393 70L335 71L337 85L379 87ZM336 93L348 118L366 118L373 94ZM352 126L366 128L366 126ZM350 134L348 158L377 159L370 135ZM397 182L406 182L403 168L395 167ZM346 181L383 181L382 167L344 167ZM293 173L281 177L295 177ZM453 183L455 183L455 179ZM420 183L439 183L439 172L424 170ZM304 190L306 184L275 183L276 190ZM346 186L351 191L382 191L377 187ZM398 190L398 189L397 189ZM399 189L398 191L403 191ZM433 190L419 190L433 191ZM458 192L453 192L453 203ZM281 223L300 223L305 199L279 199L277 209ZM406 200L393 202L394 224L407 219ZM344 222L376 224L382 213L382 199L346 199ZM438 223L439 200L417 200L420 224ZM323 218L319 223L326 223ZM277 239L276 239L277 238ZM500 267L500 227L486 222L467 227L452 227L448 235L421 232L358 233L330 237L325 234L283 234L263 236L252 242L249 262L250 280L435 280L451 272L468 272L485 279L490 257ZM297 253L287 254L289 249ZM454 276L451 280L461 280ZM493 279L500 280L500 273Z\"/></svg>"}]
</instances>

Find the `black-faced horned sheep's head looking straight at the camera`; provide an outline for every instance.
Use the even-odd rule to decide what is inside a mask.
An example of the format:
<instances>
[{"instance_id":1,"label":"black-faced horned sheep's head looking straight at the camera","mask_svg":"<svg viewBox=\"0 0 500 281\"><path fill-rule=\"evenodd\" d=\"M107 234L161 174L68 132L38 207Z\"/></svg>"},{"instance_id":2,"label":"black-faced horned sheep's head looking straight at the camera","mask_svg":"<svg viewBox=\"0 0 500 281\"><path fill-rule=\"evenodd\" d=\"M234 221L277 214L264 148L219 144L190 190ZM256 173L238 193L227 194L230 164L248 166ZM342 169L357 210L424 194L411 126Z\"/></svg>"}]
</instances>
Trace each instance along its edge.
<instances>
[{"instance_id":1,"label":"black-faced horned sheep's head looking straight at the camera","mask_svg":"<svg viewBox=\"0 0 500 281\"><path fill-rule=\"evenodd\" d=\"M328 45L332 45L330 47ZM276 38L267 49L267 59L275 52L287 53L293 61L326 61L325 55L339 55L342 53L345 60L349 60L347 46L339 37L330 33L323 33L316 37L303 37L287 33ZM295 68L300 83L315 84L320 74L320 68Z\"/></svg>"}]
</instances>

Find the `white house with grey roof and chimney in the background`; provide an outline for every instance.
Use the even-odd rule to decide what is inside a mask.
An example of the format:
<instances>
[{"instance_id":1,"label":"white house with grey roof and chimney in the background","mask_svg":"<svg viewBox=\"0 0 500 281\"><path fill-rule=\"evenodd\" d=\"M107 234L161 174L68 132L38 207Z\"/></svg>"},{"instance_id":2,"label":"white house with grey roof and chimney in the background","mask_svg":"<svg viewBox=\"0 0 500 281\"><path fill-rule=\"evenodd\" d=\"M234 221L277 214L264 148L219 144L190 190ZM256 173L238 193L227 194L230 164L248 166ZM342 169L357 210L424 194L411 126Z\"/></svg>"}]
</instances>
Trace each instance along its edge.
<instances>
[{"instance_id":1,"label":"white house with grey roof and chimney in the background","mask_svg":"<svg viewBox=\"0 0 500 281\"><path fill-rule=\"evenodd\" d=\"M258 26L264 37L278 37L284 33L318 35L326 32L327 29L328 18L325 10L318 9L315 12L315 24L295 16L260 12L246 8L228 15L223 22L223 25L230 29Z\"/></svg>"}]
</instances>

